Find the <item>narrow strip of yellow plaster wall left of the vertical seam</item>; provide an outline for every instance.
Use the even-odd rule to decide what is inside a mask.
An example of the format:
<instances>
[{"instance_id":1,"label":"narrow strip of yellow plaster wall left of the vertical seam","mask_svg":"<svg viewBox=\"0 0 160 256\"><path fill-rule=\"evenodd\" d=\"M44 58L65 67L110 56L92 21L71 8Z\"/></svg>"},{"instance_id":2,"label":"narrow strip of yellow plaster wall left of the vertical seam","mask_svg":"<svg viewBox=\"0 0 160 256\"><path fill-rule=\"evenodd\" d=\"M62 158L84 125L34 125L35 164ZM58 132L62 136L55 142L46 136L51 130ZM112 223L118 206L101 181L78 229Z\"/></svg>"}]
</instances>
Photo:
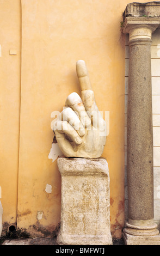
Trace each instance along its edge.
<instances>
[{"instance_id":1,"label":"narrow strip of yellow plaster wall left of the vertical seam","mask_svg":"<svg viewBox=\"0 0 160 256\"><path fill-rule=\"evenodd\" d=\"M21 4L0 1L0 186L3 229L16 223L19 166ZM14 52L12 52L14 51ZM10 55L16 53L16 55Z\"/></svg>"}]
</instances>

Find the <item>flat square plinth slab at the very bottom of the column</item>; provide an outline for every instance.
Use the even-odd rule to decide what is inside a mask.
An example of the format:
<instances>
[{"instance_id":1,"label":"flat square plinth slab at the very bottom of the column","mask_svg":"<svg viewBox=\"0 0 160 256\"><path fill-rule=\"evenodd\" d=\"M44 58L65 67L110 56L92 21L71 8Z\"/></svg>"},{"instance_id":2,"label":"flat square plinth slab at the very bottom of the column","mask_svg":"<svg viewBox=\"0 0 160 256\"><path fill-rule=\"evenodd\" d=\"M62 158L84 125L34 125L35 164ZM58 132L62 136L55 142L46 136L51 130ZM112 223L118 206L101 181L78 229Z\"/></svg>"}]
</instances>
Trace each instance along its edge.
<instances>
[{"instance_id":1,"label":"flat square plinth slab at the very bottom of the column","mask_svg":"<svg viewBox=\"0 0 160 256\"><path fill-rule=\"evenodd\" d=\"M125 245L160 245L160 235L130 235L124 229L122 237Z\"/></svg>"}]
</instances>

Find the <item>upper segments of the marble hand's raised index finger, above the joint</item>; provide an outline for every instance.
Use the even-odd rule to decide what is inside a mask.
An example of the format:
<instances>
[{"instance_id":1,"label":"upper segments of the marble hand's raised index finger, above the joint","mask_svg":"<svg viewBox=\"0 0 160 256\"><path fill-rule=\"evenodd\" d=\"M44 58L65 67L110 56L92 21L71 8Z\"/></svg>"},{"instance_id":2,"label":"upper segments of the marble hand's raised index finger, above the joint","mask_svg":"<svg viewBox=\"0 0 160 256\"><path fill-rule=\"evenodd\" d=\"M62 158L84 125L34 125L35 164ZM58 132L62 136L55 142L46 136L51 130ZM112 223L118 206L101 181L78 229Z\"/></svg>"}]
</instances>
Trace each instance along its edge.
<instances>
[{"instance_id":1,"label":"upper segments of the marble hand's raised index finger, above the joint","mask_svg":"<svg viewBox=\"0 0 160 256\"><path fill-rule=\"evenodd\" d=\"M81 91L88 90L88 89L92 90L87 66L84 60L78 60L76 62L76 71L77 71L77 77L79 80Z\"/></svg>"}]
</instances>

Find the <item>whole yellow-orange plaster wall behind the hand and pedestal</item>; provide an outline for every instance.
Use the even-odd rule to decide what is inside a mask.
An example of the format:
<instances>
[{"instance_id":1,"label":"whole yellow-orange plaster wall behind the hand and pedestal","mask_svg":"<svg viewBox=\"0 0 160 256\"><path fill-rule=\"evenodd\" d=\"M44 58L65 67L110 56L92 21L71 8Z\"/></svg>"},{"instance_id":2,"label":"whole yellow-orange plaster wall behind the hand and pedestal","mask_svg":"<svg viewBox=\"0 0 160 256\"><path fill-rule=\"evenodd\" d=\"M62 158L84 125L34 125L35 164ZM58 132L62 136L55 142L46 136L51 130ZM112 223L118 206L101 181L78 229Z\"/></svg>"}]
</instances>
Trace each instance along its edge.
<instances>
[{"instance_id":1,"label":"whole yellow-orange plaster wall behind the hand and pedestal","mask_svg":"<svg viewBox=\"0 0 160 256\"><path fill-rule=\"evenodd\" d=\"M79 93L75 64L84 59L97 106L110 113L102 156L109 166L112 235L121 237L125 36L120 21L127 3L130 1L0 0L0 44L5 49L0 57L3 221L10 223L13 217L20 231L50 236L60 222L61 179L57 160L48 159L53 141L51 113L62 110L70 93ZM16 48L16 56L9 56L10 47ZM45 191L47 184L51 193Z\"/></svg>"}]
</instances>

